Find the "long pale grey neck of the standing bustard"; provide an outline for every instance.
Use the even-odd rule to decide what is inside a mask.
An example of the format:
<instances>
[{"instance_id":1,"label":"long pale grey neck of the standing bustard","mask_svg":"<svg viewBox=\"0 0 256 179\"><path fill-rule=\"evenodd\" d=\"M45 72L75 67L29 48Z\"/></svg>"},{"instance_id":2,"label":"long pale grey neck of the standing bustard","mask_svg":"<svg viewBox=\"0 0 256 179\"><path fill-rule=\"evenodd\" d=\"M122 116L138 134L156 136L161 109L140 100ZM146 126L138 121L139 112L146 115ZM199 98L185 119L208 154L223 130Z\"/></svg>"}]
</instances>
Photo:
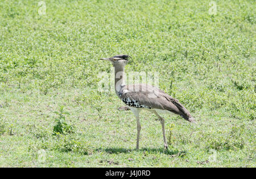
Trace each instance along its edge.
<instances>
[{"instance_id":1,"label":"long pale grey neck of the standing bustard","mask_svg":"<svg viewBox=\"0 0 256 179\"><path fill-rule=\"evenodd\" d=\"M114 66L115 68L115 93L118 95L122 86L125 85L125 66Z\"/></svg>"}]
</instances>

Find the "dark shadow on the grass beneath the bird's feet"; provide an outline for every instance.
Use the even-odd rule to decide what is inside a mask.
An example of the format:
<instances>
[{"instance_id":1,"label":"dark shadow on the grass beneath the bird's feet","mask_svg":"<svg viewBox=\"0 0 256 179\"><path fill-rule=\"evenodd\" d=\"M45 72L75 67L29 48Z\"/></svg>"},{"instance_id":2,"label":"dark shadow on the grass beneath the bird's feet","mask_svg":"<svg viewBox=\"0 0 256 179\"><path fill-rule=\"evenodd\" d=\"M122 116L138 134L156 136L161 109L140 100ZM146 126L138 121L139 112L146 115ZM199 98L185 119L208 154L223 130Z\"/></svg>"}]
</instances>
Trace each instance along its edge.
<instances>
[{"instance_id":1,"label":"dark shadow on the grass beneath the bird's feet","mask_svg":"<svg viewBox=\"0 0 256 179\"><path fill-rule=\"evenodd\" d=\"M96 151L105 151L106 153L130 153L133 151L138 151L138 152L148 152L148 153L163 153L166 155L177 155L177 156L184 156L187 151L178 151L177 149L164 149L164 148L141 148L139 150L137 149L126 149L126 148L117 148L117 147L112 147L112 148L97 148Z\"/></svg>"}]
</instances>

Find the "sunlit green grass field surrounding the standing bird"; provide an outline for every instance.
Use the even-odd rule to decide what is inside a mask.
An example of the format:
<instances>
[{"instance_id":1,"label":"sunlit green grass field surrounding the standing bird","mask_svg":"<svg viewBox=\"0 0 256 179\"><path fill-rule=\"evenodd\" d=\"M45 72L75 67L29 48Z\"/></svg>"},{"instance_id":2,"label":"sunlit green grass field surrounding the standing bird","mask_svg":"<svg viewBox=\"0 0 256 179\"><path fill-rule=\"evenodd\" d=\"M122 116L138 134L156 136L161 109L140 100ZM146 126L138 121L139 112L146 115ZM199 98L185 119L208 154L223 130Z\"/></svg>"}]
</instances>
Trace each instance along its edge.
<instances>
[{"instance_id":1,"label":"sunlit green grass field surrounding the standing bird","mask_svg":"<svg viewBox=\"0 0 256 179\"><path fill-rule=\"evenodd\" d=\"M255 1L209 2L0 1L0 166L255 167ZM134 115L97 90L117 54L195 117L163 115L167 151L147 112L136 151Z\"/></svg>"}]
</instances>

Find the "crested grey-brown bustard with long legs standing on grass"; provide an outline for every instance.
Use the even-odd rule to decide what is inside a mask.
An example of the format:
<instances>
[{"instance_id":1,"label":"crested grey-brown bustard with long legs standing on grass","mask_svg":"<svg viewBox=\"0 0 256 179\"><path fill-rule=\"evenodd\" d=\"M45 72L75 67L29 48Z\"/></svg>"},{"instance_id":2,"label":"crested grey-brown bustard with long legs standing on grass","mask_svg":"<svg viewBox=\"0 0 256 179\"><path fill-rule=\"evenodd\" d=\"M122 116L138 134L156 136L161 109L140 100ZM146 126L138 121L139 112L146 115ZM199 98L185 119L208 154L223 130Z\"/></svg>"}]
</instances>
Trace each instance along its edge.
<instances>
[{"instance_id":1,"label":"crested grey-brown bustard with long legs standing on grass","mask_svg":"<svg viewBox=\"0 0 256 179\"><path fill-rule=\"evenodd\" d=\"M125 84L125 66L129 63L129 55L115 55L100 60L110 61L114 66L115 73L115 93L129 108L137 120L137 144L139 149L139 136L141 134L141 122L139 114L142 110L154 113L162 124L164 148L167 149L166 132L164 129L165 119L159 113L177 114L189 122L196 123L189 111L175 98L171 97L163 90L149 84ZM121 107L122 109L123 107ZM126 108L125 108L126 109Z\"/></svg>"}]
</instances>

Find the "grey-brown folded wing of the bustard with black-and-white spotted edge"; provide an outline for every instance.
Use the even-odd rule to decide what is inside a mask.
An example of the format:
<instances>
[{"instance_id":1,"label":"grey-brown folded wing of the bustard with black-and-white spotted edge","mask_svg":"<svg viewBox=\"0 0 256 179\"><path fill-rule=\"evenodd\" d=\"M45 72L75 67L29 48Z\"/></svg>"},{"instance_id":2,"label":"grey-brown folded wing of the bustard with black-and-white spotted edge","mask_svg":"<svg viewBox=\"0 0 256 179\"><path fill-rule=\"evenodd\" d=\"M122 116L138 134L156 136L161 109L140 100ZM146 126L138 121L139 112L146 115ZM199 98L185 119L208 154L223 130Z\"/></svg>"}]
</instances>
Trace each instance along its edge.
<instances>
[{"instance_id":1,"label":"grey-brown folded wing of the bustard with black-and-white spotted edge","mask_svg":"<svg viewBox=\"0 0 256 179\"><path fill-rule=\"evenodd\" d=\"M126 103L130 102L130 105L135 105L134 107L142 106L148 109L168 110L187 120L191 117L189 111L177 99L151 85L125 86L120 98L124 102L126 100Z\"/></svg>"}]
</instances>

